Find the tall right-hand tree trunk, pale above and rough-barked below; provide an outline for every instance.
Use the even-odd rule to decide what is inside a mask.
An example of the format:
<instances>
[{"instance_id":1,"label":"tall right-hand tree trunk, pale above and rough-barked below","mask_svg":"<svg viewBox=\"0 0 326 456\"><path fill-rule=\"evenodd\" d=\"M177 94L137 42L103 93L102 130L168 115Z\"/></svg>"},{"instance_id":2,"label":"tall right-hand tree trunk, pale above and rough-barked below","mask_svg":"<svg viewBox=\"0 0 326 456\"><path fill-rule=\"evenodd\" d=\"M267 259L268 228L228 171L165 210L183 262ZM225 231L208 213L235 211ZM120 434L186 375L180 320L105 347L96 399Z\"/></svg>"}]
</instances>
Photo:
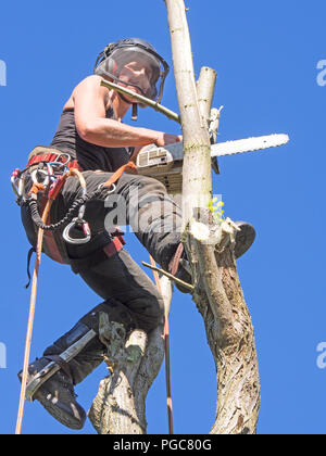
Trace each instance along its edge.
<instances>
[{"instance_id":1,"label":"tall right-hand tree trunk, pale above and rough-barked below","mask_svg":"<svg viewBox=\"0 0 326 456\"><path fill-rule=\"evenodd\" d=\"M185 144L183 239L191 258L193 300L203 316L217 370L216 419L211 432L253 434L260 382L253 328L234 256L237 227L230 219L214 223L208 211L212 177L205 119L213 83L202 80L213 76L202 69L197 93L184 0L165 3Z\"/></svg>"}]
</instances>

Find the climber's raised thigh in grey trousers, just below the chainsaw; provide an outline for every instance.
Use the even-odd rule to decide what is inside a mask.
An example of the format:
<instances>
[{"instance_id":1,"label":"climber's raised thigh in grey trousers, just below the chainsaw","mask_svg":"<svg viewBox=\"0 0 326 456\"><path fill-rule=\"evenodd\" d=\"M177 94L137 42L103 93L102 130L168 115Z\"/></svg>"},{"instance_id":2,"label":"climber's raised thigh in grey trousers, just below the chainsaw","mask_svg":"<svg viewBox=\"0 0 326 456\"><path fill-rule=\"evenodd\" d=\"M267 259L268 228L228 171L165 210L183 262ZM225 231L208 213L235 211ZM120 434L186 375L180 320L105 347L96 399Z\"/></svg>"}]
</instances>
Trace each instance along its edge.
<instances>
[{"instance_id":1,"label":"climber's raised thigh in grey trousers, just below the chainsaw","mask_svg":"<svg viewBox=\"0 0 326 456\"><path fill-rule=\"evenodd\" d=\"M83 175L89 193L112 176L95 172ZM60 215L79 193L78 179L70 178L62 190ZM124 174L114 192L109 194L103 189L96 200L87 203L85 219L92 232L110 230L114 225L130 225L142 245L165 269L180 242L181 210L168 197L165 187L150 177Z\"/></svg>"}]
</instances>

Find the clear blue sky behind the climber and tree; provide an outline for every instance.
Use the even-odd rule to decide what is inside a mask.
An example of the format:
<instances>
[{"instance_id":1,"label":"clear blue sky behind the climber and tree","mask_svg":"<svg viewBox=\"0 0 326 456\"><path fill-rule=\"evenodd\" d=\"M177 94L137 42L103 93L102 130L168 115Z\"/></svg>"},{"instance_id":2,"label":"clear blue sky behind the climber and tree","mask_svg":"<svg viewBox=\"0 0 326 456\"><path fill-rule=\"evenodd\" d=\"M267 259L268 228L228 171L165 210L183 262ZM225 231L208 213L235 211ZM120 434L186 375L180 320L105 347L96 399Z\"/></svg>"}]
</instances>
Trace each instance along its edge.
<instances>
[{"instance_id":1,"label":"clear blue sky behind the climber and tree","mask_svg":"<svg viewBox=\"0 0 326 456\"><path fill-rule=\"evenodd\" d=\"M238 262L260 362L258 430L325 433L326 369L317 367L317 345L326 341L326 85L317 80L326 84L326 76L324 66L317 65L326 60L326 4L322 0L186 4L196 76L203 65L218 73L214 106L225 106L218 140L273 132L291 138L277 150L224 157L221 175L213 177L226 215L251 221L258 231L254 245ZM0 368L0 433L13 433L29 303L24 289L29 246L9 177L15 167L25 166L35 145L50 143L63 103L91 74L106 43L138 36L168 62L172 56L162 0L2 2L0 23L0 344L7 349L7 368ZM178 111L173 74L163 104ZM149 109L140 111L138 125L179 134L178 125ZM133 233L127 242L137 262L148 259ZM32 358L100 301L68 267L43 256ZM175 432L208 433L215 414L215 368L202 319L188 295L175 292L170 324ZM86 409L104 375L100 367L77 387ZM167 432L164 366L148 395L147 419L149 433ZM23 432L74 433L37 403L26 404ZM87 422L79 433L95 431Z\"/></svg>"}]
</instances>

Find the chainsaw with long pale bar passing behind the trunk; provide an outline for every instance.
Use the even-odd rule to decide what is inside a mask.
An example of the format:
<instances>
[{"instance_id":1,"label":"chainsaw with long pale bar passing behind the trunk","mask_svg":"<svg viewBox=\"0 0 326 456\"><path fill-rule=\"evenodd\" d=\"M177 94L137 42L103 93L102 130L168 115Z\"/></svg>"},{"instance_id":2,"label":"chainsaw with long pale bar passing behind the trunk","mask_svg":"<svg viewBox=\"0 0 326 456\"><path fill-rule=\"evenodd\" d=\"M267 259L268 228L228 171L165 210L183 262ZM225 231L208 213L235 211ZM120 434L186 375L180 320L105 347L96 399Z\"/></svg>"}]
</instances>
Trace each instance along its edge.
<instances>
[{"instance_id":1,"label":"chainsaw with long pale bar passing behind the trunk","mask_svg":"<svg viewBox=\"0 0 326 456\"><path fill-rule=\"evenodd\" d=\"M269 135L212 144L212 167L215 173L218 173L217 157L220 156L266 150L288 142L288 135ZM176 194L181 193L183 160L183 142L164 145L164 148L150 144L141 149L137 155L136 165L138 174L154 177L166 187L168 193Z\"/></svg>"}]
</instances>

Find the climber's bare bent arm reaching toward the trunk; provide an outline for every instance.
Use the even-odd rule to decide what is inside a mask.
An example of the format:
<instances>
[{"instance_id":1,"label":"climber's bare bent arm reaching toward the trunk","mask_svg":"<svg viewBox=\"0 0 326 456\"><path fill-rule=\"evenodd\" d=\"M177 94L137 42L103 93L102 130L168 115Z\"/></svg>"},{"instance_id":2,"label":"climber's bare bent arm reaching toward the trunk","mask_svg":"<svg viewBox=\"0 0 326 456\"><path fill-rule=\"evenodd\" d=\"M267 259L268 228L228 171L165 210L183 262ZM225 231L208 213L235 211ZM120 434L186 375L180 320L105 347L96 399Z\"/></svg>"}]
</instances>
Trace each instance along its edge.
<instances>
[{"instance_id":1,"label":"climber's bare bent arm reaching toward the trunk","mask_svg":"<svg viewBox=\"0 0 326 456\"><path fill-rule=\"evenodd\" d=\"M108 89L100 86L101 78L90 76L74 90L75 122L78 135L87 142L105 148L164 145L180 137L148 128L131 127L105 118Z\"/></svg>"}]
</instances>

